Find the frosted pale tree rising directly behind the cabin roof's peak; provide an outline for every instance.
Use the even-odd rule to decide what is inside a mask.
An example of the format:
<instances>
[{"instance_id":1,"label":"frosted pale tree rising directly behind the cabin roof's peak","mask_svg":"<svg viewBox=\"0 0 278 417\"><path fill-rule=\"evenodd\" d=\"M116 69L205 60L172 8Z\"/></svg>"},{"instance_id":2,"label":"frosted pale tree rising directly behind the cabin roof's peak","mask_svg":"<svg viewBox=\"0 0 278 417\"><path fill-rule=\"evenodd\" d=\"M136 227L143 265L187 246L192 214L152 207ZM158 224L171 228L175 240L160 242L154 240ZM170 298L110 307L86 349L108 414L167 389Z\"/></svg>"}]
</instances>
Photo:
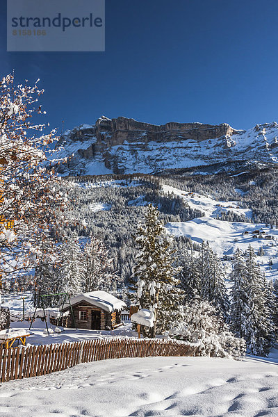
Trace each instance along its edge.
<instances>
[{"instance_id":1,"label":"frosted pale tree rising directly behind the cabin roof's peak","mask_svg":"<svg viewBox=\"0 0 278 417\"><path fill-rule=\"evenodd\" d=\"M86 243L81 257L83 277L85 280L85 292L96 291L99 289L108 290L111 286L111 259L108 259L108 250L104 243L90 236Z\"/></svg>"}]
</instances>

